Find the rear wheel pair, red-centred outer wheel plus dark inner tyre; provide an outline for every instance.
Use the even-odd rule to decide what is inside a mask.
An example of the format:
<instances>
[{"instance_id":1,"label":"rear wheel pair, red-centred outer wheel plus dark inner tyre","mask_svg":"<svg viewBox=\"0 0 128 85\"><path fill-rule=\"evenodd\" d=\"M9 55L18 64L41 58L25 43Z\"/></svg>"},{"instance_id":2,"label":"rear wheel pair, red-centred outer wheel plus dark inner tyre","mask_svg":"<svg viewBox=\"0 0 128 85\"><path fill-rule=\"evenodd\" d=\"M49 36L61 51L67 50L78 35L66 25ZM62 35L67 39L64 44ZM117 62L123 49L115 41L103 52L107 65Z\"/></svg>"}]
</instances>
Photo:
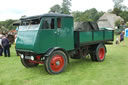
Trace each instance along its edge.
<instances>
[{"instance_id":1,"label":"rear wheel pair, red-centred outer wheel plus dark inner tyre","mask_svg":"<svg viewBox=\"0 0 128 85\"><path fill-rule=\"evenodd\" d=\"M103 44L99 44L96 47L96 50L91 55L92 61L102 62L105 59L106 56L106 47Z\"/></svg>"}]
</instances>

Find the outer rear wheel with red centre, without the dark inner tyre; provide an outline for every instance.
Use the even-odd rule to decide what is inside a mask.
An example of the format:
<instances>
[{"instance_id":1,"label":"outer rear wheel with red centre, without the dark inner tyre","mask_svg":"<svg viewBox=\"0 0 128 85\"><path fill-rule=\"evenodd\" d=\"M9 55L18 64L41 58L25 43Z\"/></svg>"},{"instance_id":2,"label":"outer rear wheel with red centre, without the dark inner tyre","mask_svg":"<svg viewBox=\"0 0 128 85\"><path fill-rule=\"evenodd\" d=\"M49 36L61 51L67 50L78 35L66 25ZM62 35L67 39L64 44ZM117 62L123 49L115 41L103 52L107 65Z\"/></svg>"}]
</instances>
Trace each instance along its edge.
<instances>
[{"instance_id":1,"label":"outer rear wheel with red centre, without the dark inner tyre","mask_svg":"<svg viewBox=\"0 0 128 85\"><path fill-rule=\"evenodd\" d=\"M102 62L104 61L106 56L106 47L104 44L99 44L96 48L96 61Z\"/></svg>"}]
</instances>

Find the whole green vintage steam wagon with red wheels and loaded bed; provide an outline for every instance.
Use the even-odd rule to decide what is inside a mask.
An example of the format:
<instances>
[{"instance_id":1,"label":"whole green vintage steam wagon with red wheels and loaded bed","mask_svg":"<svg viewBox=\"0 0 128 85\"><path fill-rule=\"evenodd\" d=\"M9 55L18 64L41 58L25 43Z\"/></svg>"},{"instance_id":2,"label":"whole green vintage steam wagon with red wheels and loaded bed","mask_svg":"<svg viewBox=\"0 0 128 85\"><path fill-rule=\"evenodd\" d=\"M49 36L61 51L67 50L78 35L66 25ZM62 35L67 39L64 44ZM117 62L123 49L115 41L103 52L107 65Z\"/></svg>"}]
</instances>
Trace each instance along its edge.
<instances>
[{"instance_id":1,"label":"whole green vintage steam wagon with red wheels and loaded bed","mask_svg":"<svg viewBox=\"0 0 128 85\"><path fill-rule=\"evenodd\" d=\"M106 47L114 39L113 30L99 30L91 22L73 22L66 14L44 14L21 18L16 51L25 67L44 64L50 74L64 71L69 58L90 54L92 61L104 61Z\"/></svg>"}]
</instances>

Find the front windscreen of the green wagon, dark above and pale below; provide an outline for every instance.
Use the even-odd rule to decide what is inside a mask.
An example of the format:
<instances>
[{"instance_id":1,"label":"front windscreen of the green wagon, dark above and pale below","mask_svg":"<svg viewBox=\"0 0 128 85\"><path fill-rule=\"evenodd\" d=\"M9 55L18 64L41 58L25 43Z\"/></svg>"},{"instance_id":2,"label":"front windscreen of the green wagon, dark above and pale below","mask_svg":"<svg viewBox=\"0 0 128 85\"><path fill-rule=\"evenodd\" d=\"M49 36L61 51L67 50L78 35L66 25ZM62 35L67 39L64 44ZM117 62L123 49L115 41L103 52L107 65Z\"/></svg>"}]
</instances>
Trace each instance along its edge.
<instances>
[{"instance_id":1,"label":"front windscreen of the green wagon, dark above and pale below","mask_svg":"<svg viewBox=\"0 0 128 85\"><path fill-rule=\"evenodd\" d=\"M40 26L40 19L22 20L19 26L19 31L38 30Z\"/></svg>"}]
</instances>

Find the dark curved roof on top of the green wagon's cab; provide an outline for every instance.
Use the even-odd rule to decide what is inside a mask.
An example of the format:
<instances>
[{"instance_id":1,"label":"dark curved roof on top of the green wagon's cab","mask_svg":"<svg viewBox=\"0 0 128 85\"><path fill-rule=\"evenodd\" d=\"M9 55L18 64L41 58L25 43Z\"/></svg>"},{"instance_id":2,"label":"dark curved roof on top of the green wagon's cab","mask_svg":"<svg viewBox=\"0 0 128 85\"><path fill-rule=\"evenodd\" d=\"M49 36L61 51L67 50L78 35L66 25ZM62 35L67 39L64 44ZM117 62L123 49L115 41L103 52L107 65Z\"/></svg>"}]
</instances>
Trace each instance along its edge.
<instances>
[{"instance_id":1,"label":"dark curved roof on top of the green wagon's cab","mask_svg":"<svg viewBox=\"0 0 128 85\"><path fill-rule=\"evenodd\" d=\"M33 19L40 19L42 17L73 17L69 14L57 14L57 13L47 13L43 15L37 15L37 16L30 16L30 17L23 17L20 20L33 20Z\"/></svg>"}]
</instances>

